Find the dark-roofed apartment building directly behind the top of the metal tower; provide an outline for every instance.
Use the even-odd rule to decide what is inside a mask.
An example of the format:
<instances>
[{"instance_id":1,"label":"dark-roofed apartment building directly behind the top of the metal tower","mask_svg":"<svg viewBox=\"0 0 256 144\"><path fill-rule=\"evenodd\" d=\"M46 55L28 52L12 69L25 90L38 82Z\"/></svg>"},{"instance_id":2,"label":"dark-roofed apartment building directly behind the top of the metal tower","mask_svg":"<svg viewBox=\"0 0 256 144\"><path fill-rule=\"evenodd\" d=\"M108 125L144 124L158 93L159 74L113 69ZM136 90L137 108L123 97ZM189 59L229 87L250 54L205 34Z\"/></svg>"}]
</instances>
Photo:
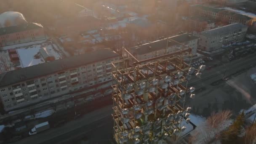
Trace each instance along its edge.
<instances>
[{"instance_id":1,"label":"dark-roofed apartment building directly behind the top of the metal tower","mask_svg":"<svg viewBox=\"0 0 256 144\"><path fill-rule=\"evenodd\" d=\"M189 48L192 48L193 55L197 53L198 37L189 33L185 33L182 35L176 35L169 38L179 43L182 43L184 45L187 45ZM167 49L166 49L166 46L167 46ZM130 51L133 54L133 56L136 57L136 59L144 60L144 59L149 59L156 56L164 55L165 49L166 49L166 53L175 53L176 51L179 51L178 48L182 49L182 46L171 40L168 40L168 43L167 43L167 38L165 38L163 40L157 40L152 43L146 43L144 45L128 48L128 51Z\"/></svg>"}]
</instances>

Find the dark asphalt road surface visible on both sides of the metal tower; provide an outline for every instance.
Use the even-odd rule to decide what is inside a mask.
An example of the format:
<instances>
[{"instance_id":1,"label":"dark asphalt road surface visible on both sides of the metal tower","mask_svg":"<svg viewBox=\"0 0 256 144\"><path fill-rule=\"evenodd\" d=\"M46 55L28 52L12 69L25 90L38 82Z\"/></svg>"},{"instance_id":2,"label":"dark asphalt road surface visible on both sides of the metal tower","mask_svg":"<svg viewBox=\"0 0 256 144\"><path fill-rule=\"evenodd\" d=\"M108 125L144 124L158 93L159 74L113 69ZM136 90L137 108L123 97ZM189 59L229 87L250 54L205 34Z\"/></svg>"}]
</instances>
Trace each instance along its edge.
<instances>
[{"instance_id":1,"label":"dark asphalt road surface visible on both sides of the metal tower","mask_svg":"<svg viewBox=\"0 0 256 144\"><path fill-rule=\"evenodd\" d=\"M193 108L192 113L206 116L210 115L213 111L221 110L221 108L232 109L235 106L237 107L235 111L238 111L241 108L249 107L251 104L248 104L242 98L234 98L236 99L234 100L232 93L228 96L224 96L219 90L217 90L217 93L214 93L214 96L210 93L219 87L224 87L225 81L216 86L211 85L216 80L222 79L224 71L226 71L226 75L228 76L240 69L250 67L252 64L256 64L256 57L249 55L239 60L231 61L225 65L205 70L201 79L193 78L190 80L189 85L193 85L197 89L202 87L206 88L205 91L196 93L195 99L187 100L187 104ZM222 99L224 99L224 101L221 101ZM225 101L229 101L229 103ZM22 139L14 144L70 144L85 137L90 141L89 144L95 142L107 144L108 139L112 136L111 113L112 105L97 109L78 120L66 123L59 128L51 128L48 131Z\"/></svg>"}]
</instances>

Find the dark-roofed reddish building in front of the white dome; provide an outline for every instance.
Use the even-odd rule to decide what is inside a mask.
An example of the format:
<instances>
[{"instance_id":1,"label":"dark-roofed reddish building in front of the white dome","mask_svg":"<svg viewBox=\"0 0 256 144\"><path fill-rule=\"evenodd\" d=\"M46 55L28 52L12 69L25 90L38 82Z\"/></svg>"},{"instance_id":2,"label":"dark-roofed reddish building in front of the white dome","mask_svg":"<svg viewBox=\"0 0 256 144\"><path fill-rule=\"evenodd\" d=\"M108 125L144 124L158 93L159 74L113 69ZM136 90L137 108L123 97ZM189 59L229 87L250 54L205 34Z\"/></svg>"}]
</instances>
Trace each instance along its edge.
<instances>
[{"instance_id":1,"label":"dark-roofed reddish building in front of the white dome","mask_svg":"<svg viewBox=\"0 0 256 144\"><path fill-rule=\"evenodd\" d=\"M37 23L0 28L0 47L44 40L45 38L43 26Z\"/></svg>"}]
</instances>

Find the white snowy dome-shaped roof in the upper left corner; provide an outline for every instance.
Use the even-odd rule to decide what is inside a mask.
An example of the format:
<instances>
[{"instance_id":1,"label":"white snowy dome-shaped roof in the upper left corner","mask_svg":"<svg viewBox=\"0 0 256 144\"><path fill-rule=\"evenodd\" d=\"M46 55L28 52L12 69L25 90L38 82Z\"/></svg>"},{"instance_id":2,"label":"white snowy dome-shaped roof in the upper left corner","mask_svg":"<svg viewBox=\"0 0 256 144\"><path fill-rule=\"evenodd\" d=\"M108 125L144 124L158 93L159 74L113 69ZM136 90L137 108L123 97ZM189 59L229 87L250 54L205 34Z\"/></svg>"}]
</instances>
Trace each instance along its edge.
<instances>
[{"instance_id":1,"label":"white snowy dome-shaped roof in the upper left corner","mask_svg":"<svg viewBox=\"0 0 256 144\"><path fill-rule=\"evenodd\" d=\"M11 27L27 23L22 13L7 11L0 14L0 27Z\"/></svg>"}]
</instances>

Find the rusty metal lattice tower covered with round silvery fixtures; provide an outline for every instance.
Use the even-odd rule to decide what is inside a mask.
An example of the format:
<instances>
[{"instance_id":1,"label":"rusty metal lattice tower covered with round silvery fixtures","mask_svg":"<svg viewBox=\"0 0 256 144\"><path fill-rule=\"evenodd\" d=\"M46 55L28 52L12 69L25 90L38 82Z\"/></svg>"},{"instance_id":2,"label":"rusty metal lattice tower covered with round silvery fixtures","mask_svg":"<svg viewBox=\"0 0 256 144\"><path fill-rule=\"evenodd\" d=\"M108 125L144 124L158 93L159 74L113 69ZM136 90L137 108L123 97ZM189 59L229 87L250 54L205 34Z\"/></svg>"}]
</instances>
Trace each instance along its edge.
<instances>
[{"instance_id":1,"label":"rusty metal lattice tower covered with round silvery fixtures","mask_svg":"<svg viewBox=\"0 0 256 144\"><path fill-rule=\"evenodd\" d=\"M191 68L191 61L184 62L192 56L191 49L178 44L182 49L175 53L165 50L162 56L142 61L123 48L123 58L112 62L113 136L117 144L161 144L184 131L182 120L189 123L191 108L185 109L184 102L195 96L195 88L187 88L187 83L193 74L200 77L205 66Z\"/></svg>"}]
</instances>

